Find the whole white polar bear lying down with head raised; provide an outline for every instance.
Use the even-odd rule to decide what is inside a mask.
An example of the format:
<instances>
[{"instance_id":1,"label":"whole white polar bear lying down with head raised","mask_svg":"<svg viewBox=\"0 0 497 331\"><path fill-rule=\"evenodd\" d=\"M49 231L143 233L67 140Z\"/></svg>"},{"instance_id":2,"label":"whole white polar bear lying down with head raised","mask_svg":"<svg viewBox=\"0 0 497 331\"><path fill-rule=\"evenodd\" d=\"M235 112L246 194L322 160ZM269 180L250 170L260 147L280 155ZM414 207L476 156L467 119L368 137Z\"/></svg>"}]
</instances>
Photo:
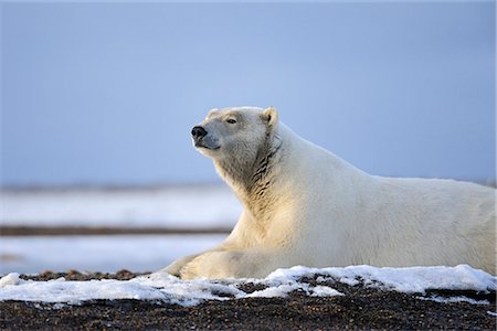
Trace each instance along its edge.
<instances>
[{"instance_id":1,"label":"whole white polar bear lying down with head raised","mask_svg":"<svg viewBox=\"0 0 497 331\"><path fill-rule=\"evenodd\" d=\"M295 265L468 264L495 274L491 188L367 174L294 134L272 107L213 109L191 134L244 210L223 243L163 271L261 278Z\"/></svg>"}]
</instances>

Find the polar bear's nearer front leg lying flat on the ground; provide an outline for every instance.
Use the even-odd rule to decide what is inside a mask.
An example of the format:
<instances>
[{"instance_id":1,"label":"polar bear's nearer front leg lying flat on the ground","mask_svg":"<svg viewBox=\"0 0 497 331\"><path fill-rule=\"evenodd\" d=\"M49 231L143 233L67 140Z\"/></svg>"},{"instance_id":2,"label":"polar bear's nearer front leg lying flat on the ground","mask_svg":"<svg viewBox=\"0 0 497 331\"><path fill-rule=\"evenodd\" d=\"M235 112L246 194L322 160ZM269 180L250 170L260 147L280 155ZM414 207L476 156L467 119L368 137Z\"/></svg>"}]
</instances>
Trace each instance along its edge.
<instances>
[{"instance_id":1,"label":"polar bear's nearer front leg lying flat on the ground","mask_svg":"<svg viewBox=\"0 0 497 331\"><path fill-rule=\"evenodd\" d=\"M208 252L188 263L179 274L182 279L262 278L282 267L281 260L276 264L278 256L276 252L253 248Z\"/></svg>"}]
</instances>

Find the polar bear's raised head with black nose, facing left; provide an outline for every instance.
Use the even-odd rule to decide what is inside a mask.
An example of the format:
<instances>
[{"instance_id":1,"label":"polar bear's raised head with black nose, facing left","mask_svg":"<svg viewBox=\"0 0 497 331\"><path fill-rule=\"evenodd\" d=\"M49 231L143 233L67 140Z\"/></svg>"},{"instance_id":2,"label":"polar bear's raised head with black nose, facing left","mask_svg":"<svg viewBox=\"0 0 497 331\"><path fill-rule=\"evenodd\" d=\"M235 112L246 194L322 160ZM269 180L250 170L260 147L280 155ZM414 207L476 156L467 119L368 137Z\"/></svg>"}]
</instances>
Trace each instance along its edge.
<instances>
[{"instance_id":1,"label":"polar bear's raised head with black nose, facing left","mask_svg":"<svg viewBox=\"0 0 497 331\"><path fill-rule=\"evenodd\" d=\"M278 114L274 107L212 109L191 130L193 146L214 161L236 159L236 163L253 164L277 122Z\"/></svg>"}]
</instances>

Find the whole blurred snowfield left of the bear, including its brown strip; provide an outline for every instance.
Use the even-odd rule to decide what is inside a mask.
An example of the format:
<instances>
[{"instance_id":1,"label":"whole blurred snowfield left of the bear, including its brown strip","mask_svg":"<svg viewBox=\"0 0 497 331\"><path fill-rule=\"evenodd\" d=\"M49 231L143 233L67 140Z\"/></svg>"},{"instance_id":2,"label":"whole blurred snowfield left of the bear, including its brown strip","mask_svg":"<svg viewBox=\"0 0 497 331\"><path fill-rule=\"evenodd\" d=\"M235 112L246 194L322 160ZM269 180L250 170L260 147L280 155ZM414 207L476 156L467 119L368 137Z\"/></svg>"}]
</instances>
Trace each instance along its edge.
<instances>
[{"instance_id":1,"label":"whole blurred snowfield left of the bear, including its brown strip","mask_svg":"<svg viewBox=\"0 0 497 331\"><path fill-rule=\"evenodd\" d=\"M0 274L154 271L223 241L240 212L222 185L2 189Z\"/></svg>"}]
</instances>

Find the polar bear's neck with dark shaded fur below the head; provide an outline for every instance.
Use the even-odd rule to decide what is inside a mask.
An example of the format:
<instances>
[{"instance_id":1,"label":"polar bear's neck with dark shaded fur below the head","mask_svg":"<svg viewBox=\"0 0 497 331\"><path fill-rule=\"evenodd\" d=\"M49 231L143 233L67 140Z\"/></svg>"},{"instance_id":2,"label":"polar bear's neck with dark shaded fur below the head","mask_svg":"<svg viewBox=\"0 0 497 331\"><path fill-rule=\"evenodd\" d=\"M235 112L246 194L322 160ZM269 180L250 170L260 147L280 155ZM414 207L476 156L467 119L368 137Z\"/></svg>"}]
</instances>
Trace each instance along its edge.
<instances>
[{"instance_id":1,"label":"polar bear's neck with dark shaded fur below the head","mask_svg":"<svg viewBox=\"0 0 497 331\"><path fill-rule=\"evenodd\" d=\"M274 200L271 184L279 170L276 164L282 158L282 146L281 137L276 132L267 131L255 159L245 160L237 156L214 161L220 175L254 216L265 209L268 201Z\"/></svg>"}]
</instances>

